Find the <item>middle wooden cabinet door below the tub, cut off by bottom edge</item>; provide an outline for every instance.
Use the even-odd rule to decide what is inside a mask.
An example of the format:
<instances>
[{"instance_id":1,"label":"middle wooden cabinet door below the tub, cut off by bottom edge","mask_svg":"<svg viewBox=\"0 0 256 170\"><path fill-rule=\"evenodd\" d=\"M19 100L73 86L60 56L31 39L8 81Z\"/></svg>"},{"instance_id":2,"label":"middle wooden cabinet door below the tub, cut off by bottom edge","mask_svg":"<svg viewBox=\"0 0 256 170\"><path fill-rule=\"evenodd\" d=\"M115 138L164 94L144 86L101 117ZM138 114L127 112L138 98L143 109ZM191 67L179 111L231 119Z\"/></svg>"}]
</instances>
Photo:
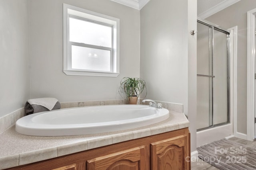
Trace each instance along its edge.
<instances>
[{"instance_id":1,"label":"middle wooden cabinet door below the tub, cut off by bottom edge","mask_svg":"<svg viewBox=\"0 0 256 170\"><path fill-rule=\"evenodd\" d=\"M100 156L87 161L87 170L146 170L145 147Z\"/></svg>"}]
</instances>

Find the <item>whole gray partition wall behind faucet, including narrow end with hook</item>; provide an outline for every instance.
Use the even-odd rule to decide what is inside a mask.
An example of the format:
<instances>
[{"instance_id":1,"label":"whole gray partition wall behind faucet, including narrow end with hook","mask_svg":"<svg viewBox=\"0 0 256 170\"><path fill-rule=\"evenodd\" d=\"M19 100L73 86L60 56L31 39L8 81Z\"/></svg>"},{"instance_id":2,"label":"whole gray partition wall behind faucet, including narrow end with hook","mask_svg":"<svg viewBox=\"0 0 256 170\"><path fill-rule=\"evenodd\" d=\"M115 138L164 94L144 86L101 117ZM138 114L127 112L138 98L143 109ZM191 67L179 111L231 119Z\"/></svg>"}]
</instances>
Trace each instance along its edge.
<instances>
[{"instance_id":1,"label":"whole gray partition wall behind faucet, including narrow end with hook","mask_svg":"<svg viewBox=\"0 0 256 170\"><path fill-rule=\"evenodd\" d=\"M153 100L184 104L196 150L197 0L150 0L140 10L140 76ZM189 54L189 55L188 55Z\"/></svg>"}]
</instances>

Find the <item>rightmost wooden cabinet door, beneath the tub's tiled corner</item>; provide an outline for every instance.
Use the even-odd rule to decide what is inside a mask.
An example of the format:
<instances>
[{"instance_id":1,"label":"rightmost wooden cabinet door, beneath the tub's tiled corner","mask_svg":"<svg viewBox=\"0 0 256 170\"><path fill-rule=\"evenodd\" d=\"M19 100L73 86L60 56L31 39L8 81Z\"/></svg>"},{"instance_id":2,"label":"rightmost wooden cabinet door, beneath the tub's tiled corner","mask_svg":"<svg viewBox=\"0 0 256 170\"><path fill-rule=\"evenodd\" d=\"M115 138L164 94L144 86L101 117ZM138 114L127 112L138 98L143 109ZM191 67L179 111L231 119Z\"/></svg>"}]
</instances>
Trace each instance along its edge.
<instances>
[{"instance_id":1,"label":"rightmost wooden cabinet door, beneath the tub's tiled corner","mask_svg":"<svg viewBox=\"0 0 256 170\"><path fill-rule=\"evenodd\" d=\"M187 140L182 135L151 143L151 170L188 170Z\"/></svg>"}]
</instances>

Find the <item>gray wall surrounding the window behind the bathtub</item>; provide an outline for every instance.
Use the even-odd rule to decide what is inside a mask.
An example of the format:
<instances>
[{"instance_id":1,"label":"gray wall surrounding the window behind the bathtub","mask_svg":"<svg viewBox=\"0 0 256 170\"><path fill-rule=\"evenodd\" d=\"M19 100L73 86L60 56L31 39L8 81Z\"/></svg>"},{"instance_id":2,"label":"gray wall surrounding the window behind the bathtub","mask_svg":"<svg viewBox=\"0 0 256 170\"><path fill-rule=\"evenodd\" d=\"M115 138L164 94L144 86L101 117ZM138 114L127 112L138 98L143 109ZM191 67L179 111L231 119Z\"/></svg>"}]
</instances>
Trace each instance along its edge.
<instances>
[{"instance_id":1,"label":"gray wall surrounding the window behind the bathtub","mask_svg":"<svg viewBox=\"0 0 256 170\"><path fill-rule=\"evenodd\" d=\"M120 99L123 77L140 76L140 12L110 0L30 0L31 98L60 102ZM120 19L120 75L68 76L63 72L63 7L78 6Z\"/></svg>"}]
</instances>

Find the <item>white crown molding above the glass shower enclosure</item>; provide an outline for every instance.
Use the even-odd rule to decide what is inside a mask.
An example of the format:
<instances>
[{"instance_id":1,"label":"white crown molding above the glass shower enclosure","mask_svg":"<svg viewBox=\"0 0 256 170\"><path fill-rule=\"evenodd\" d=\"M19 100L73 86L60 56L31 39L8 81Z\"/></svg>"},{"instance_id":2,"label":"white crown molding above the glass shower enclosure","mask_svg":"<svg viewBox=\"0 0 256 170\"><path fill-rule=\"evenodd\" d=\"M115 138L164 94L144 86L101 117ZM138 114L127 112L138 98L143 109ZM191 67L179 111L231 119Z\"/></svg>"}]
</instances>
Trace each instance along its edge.
<instances>
[{"instance_id":1,"label":"white crown molding above the glass shower enclosure","mask_svg":"<svg viewBox=\"0 0 256 170\"><path fill-rule=\"evenodd\" d=\"M225 0L225 1L221 2L220 4L210 8L209 10L206 10L205 12L199 14L198 17L205 19L205 18L223 10L224 8L227 8L228 6L235 4L238 1L240 1L240 0Z\"/></svg>"}]
</instances>

